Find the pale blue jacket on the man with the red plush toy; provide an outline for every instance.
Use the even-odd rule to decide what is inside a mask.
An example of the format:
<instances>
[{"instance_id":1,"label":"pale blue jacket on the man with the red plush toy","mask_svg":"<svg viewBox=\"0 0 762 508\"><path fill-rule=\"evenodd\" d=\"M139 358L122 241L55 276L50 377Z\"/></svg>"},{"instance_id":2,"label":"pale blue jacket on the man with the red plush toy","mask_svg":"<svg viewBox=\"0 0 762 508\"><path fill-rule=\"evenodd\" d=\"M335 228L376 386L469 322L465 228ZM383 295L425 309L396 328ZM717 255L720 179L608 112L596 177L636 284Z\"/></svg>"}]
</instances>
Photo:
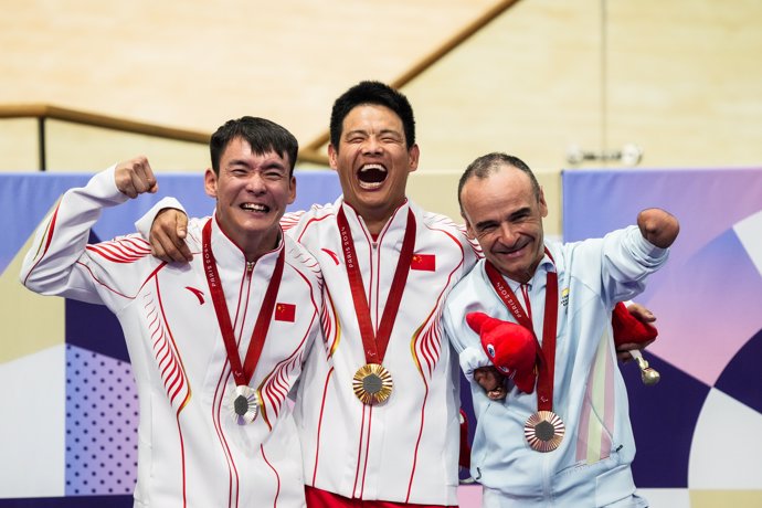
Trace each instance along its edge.
<instances>
[{"instance_id":1,"label":"pale blue jacket on the man with the red plush toy","mask_svg":"<svg viewBox=\"0 0 762 508\"><path fill-rule=\"evenodd\" d=\"M537 392L525 394L511 385L506 400L495 402L472 379L477 417L472 475L485 486L489 507L644 506L633 497L635 443L611 311L616 301L644 289L644 279L666 262L668 251L644 240L636 226L602 240L547 247L559 276L553 411L565 424L565 436L553 452L532 451L523 425L537 411ZM553 265L546 255L530 282L540 341L548 269ZM506 281L520 294L518 283ZM466 324L472 311L516 322L490 285L484 261L453 289L445 306L444 326L467 375L489 364L478 335Z\"/></svg>"}]
</instances>

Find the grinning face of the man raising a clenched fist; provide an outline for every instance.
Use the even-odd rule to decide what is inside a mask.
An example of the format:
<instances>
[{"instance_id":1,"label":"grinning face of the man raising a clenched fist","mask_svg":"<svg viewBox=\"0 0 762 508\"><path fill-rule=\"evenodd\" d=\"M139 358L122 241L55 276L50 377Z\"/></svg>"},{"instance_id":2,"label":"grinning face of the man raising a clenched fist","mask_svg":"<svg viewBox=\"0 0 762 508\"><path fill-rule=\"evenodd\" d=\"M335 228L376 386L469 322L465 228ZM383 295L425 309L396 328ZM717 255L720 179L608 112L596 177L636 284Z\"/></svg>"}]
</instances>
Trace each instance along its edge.
<instances>
[{"instance_id":1,"label":"grinning face of the man raising a clenched fist","mask_svg":"<svg viewBox=\"0 0 762 508\"><path fill-rule=\"evenodd\" d=\"M275 248L281 218L296 199L288 156L257 155L248 141L233 138L220 157L219 174L208 169L207 194L216 198L220 229L244 252L247 261Z\"/></svg>"}]
</instances>

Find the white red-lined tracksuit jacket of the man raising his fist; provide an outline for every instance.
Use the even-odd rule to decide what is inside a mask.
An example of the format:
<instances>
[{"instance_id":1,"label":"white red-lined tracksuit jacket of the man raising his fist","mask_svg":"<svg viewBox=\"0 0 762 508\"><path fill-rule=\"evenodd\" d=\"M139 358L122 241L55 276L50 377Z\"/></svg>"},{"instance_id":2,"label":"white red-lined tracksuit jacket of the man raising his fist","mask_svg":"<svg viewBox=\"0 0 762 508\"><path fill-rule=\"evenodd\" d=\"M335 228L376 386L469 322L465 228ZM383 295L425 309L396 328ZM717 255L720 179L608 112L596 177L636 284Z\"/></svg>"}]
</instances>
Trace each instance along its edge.
<instances>
[{"instance_id":1,"label":"white red-lined tracksuit jacket of the man raising his fist","mask_svg":"<svg viewBox=\"0 0 762 508\"><path fill-rule=\"evenodd\" d=\"M135 506L304 506L299 441L286 395L319 336L316 261L284 236L247 269L212 219L212 251L242 359L277 255L286 250L276 310L250 383L263 408L252 424L237 425L227 406L235 383L200 255L205 221L189 225L189 265L155 258L137 235L87 245L102 209L126 200L114 167L67 191L38 230L21 281L44 295L106 305L119 319L140 402Z\"/></svg>"}]
</instances>

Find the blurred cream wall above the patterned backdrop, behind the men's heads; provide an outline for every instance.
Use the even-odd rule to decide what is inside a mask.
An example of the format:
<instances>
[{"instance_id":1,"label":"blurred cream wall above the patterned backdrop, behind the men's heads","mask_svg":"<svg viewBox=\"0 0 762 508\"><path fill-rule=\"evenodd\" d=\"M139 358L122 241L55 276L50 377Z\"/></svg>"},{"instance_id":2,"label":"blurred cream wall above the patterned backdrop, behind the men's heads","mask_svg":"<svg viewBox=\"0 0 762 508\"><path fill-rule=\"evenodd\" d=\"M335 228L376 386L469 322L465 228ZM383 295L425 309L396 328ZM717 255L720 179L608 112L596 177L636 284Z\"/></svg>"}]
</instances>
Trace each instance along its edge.
<instances>
[{"instance_id":1,"label":"blurred cream wall above the patterned backdrop, behind the men's heads","mask_svg":"<svg viewBox=\"0 0 762 508\"><path fill-rule=\"evenodd\" d=\"M0 171L40 168L40 123L12 113L29 105L194 135L47 119L49 171L137 154L157 171L200 171L204 136L246 114L296 134L299 168L325 167L332 100L367 78L410 97L422 150L411 195L455 218L459 172L494 150L540 173L551 234L563 168L762 160L758 0L0 4Z\"/></svg>"}]
</instances>

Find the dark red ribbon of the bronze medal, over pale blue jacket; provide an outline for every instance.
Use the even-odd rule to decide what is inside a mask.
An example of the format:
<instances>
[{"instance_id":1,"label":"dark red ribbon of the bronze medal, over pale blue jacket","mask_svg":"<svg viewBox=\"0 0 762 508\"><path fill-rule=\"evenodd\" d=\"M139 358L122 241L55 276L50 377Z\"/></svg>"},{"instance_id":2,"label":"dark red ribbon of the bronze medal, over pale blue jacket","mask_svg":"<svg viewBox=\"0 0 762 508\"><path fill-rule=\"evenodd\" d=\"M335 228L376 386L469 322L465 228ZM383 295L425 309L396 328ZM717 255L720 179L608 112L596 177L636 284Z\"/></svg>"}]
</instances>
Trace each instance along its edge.
<instances>
[{"instance_id":1,"label":"dark red ribbon of the bronze medal, over pale blue jacket","mask_svg":"<svg viewBox=\"0 0 762 508\"><path fill-rule=\"evenodd\" d=\"M546 248L546 253L550 253ZM552 257L551 257L552 261ZM508 310L522 327L527 328L535 336L535 327L531 319L517 301L516 295L510 286L506 284L500 272L490 263L485 263L487 277L493 284L497 296L500 297ZM542 356L538 366L537 373L537 409L538 411L553 411L553 373L555 371L555 328L558 326L559 311L559 283L555 272L548 272L546 279L546 313L542 324Z\"/></svg>"}]
</instances>

